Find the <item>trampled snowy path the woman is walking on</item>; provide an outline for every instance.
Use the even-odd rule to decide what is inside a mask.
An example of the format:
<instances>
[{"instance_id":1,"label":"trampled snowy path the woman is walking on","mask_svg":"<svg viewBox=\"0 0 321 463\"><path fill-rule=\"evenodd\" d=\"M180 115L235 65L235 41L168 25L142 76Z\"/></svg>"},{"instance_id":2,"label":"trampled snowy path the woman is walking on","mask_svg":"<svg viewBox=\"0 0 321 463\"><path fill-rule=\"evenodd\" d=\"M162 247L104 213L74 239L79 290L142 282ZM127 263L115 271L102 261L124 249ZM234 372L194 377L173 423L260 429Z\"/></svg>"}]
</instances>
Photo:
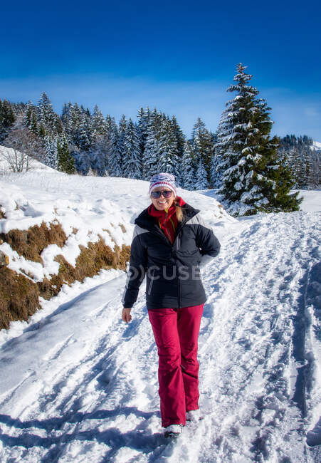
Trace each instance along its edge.
<instances>
[{"instance_id":1,"label":"trampled snowy path the woman is walking on","mask_svg":"<svg viewBox=\"0 0 321 463\"><path fill-rule=\"evenodd\" d=\"M231 225L206 267L196 429L161 434L157 353L144 289L120 322L125 277L86 291L0 350L2 462L317 462L309 403L305 299L320 259L320 215ZM315 400L320 400L316 397ZM307 417L304 417L307 415ZM318 453L319 452L319 453Z\"/></svg>"}]
</instances>

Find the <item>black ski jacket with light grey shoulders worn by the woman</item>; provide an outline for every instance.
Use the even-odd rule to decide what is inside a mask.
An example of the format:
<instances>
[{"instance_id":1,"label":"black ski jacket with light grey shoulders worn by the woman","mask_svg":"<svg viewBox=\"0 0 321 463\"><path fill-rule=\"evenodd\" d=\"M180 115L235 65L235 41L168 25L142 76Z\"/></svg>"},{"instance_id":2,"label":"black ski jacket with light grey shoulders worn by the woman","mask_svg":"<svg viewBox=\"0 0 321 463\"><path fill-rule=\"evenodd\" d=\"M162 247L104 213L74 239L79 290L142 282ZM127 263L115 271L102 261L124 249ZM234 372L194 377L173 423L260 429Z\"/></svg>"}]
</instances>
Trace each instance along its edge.
<instances>
[{"instance_id":1,"label":"black ski jacket with light grey shoulders worn by the woman","mask_svg":"<svg viewBox=\"0 0 321 463\"><path fill-rule=\"evenodd\" d=\"M135 219L130 268L122 303L131 308L146 275L147 309L198 306L206 301L199 272L204 260L219 254L219 240L199 217L199 210L184 204L174 243L147 209Z\"/></svg>"}]
</instances>

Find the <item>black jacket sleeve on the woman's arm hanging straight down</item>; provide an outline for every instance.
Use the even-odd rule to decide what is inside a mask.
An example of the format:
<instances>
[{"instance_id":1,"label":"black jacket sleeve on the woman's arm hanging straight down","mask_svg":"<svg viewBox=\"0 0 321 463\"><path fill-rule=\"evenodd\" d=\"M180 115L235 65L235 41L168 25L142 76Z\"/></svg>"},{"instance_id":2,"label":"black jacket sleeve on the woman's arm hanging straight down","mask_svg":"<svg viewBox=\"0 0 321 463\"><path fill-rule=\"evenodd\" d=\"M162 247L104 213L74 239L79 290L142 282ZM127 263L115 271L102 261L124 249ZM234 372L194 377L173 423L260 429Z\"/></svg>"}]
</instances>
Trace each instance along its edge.
<instances>
[{"instance_id":1,"label":"black jacket sleeve on the woman's arm hanging straight down","mask_svg":"<svg viewBox=\"0 0 321 463\"><path fill-rule=\"evenodd\" d=\"M146 273L147 249L142 244L142 233L144 231L137 225L135 226L130 247L130 266L127 271L125 291L122 295L122 305L125 308L132 308L135 304L140 285Z\"/></svg>"}]
</instances>

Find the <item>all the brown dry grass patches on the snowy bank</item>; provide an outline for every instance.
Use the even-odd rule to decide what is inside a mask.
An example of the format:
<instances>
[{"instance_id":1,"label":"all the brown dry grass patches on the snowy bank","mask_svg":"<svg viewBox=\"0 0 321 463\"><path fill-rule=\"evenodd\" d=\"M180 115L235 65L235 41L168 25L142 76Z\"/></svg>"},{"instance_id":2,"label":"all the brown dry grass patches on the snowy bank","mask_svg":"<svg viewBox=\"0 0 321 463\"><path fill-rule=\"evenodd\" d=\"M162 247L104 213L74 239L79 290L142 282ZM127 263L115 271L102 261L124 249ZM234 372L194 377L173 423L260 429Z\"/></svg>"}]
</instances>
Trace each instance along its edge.
<instances>
[{"instance_id":1,"label":"all the brown dry grass patches on the snowy bank","mask_svg":"<svg viewBox=\"0 0 321 463\"><path fill-rule=\"evenodd\" d=\"M49 244L62 247L67 236L60 224L53 223L50 227L41 224L26 231L11 230L0 234L1 240L7 242L19 255L26 259L41 262L41 252ZM16 320L27 320L40 308L38 298L50 299L56 296L64 283L83 281L87 276L94 276L101 269L124 269L130 259L130 246L110 246L100 237L97 243L88 243L88 247L80 246L80 255L75 267L68 264L63 256L56 256L58 275L50 279L34 283L28 276L16 274L6 267L0 268L0 329L9 328L9 323Z\"/></svg>"}]
</instances>

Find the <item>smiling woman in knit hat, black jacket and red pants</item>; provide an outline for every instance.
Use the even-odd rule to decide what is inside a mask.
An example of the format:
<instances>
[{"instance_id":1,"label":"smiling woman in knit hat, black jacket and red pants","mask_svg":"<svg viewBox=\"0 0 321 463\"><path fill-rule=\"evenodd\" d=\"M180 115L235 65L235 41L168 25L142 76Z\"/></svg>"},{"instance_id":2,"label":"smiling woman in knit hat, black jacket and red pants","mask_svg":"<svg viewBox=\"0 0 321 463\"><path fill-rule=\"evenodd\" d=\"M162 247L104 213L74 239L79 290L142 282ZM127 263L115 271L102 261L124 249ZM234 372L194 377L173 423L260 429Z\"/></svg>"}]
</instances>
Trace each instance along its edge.
<instances>
[{"instance_id":1,"label":"smiling woman in knit hat, black jacket and red pants","mask_svg":"<svg viewBox=\"0 0 321 463\"><path fill-rule=\"evenodd\" d=\"M146 300L159 355L159 397L165 437L177 437L186 420L199 419L197 340L206 295L199 265L219 254L199 210L177 196L175 177L157 174L152 204L135 219L122 320L132 320L146 274Z\"/></svg>"}]
</instances>

